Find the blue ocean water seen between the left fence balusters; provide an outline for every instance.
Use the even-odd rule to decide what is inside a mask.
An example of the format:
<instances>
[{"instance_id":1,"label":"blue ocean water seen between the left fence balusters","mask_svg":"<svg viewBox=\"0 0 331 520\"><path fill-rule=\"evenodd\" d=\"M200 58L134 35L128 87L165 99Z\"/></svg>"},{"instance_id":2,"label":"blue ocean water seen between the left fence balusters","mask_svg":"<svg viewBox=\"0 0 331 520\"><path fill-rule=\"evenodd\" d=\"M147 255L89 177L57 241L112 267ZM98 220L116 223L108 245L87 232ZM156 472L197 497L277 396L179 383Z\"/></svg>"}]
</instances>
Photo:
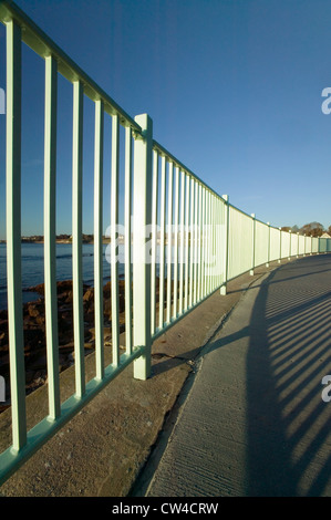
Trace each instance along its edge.
<instances>
[{"instance_id":1,"label":"blue ocean water seen between the left fence balusters","mask_svg":"<svg viewBox=\"0 0 331 520\"><path fill-rule=\"evenodd\" d=\"M111 264L107 261L107 245L103 245L103 277L104 283L111 279ZM23 303L40 298L39 294L27 291L28 288L44 282L43 243L22 243L22 289ZM118 247L118 256L123 259L123 246ZM93 245L83 243L83 281L89 285L94 283ZM118 263L120 277L124 274L124 263ZM72 280L72 245L56 243L56 280ZM0 243L0 309L7 309L7 261L6 243Z\"/></svg>"}]
</instances>

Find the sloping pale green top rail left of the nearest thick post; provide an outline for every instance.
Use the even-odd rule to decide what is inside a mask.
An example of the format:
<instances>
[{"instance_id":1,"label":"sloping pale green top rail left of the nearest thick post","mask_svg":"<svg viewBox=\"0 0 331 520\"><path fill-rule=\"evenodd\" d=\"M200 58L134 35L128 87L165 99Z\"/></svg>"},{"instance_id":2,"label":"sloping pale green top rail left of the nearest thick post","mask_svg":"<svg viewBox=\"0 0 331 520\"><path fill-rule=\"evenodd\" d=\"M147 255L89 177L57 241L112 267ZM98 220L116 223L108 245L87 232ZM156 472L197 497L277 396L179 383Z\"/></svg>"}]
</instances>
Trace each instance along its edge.
<instances>
[{"instance_id":1,"label":"sloping pale green top rail left of the nearest thick post","mask_svg":"<svg viewBox=\"0 0 331 520\"><path fill-rule=\"evenodd\" d=\"M0 1L0 21L6 24L14 20L22 30L22 41L41 58L53 55L58 62L59 72L71 83L81 81L84 94L92 101L102 100L104 110L110 115L118 115L123 126L131 126L142 133L141 126L108 96L51 38L49 38L21 9L10 1Z\"/></svg>"}]
</instances>

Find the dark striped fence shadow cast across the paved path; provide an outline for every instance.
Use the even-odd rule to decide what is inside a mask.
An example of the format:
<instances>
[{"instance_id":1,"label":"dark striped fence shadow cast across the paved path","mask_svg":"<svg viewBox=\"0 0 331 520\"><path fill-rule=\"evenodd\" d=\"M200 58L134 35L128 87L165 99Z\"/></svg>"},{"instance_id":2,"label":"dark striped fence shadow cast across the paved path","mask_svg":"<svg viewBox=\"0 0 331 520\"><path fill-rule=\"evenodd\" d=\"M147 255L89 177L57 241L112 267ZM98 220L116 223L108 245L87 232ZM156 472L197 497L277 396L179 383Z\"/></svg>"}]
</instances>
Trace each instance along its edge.
<instances>
[{"instance_id":1,"label":"dark striped fence shadow cast across the paved path","mask_svg":"<svg viewBox=\"0 0 331 520\"><path fill-rule=\"evenodd\" d=\"M321 496L331 490L330 257L302 259L261 283L247 355L247 495ZM307 262L304 264L304 262ZM309 263L309 266L308 266ZM307 270L311 274L306 275Z\"/></svg>"}]
</instances>

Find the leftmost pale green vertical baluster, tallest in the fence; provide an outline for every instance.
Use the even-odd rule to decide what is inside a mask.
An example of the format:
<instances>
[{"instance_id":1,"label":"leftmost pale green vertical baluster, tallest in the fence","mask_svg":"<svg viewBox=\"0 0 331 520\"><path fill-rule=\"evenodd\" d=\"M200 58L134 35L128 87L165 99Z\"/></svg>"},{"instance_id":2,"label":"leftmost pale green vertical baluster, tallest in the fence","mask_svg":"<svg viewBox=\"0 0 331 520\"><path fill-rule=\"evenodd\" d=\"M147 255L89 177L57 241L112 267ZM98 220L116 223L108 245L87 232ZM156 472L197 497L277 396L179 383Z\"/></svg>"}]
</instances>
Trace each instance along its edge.
<instances>
[{"instance_id":1,"label":"leftmost pale green vertical baluster, tallest in the fence","mask_svg":"<svg viewBox=\"0 0 331 520\"><path fill-rule=\"evenodd\" d=\"M21 29L7 24L6 221L12 446L27 441L21 272Z\"/></svg>"}]
</instances>

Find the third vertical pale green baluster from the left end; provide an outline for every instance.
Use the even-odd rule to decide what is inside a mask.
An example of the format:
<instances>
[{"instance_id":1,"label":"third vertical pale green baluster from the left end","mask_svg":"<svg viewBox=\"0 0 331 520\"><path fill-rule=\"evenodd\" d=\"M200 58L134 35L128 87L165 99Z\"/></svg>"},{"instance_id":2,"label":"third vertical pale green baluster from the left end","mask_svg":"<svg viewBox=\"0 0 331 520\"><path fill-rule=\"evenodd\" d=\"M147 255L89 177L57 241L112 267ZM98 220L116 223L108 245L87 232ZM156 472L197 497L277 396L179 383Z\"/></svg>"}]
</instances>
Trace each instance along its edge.
<instances>
[{"instance_id":1,"label":"third vertical pale green baluster from the left end","mask_svg":"<svg viewBox=\"0 0 331 520\"><path fill-rule=\"evenodd\" d=\"M72 281L76 395L85 393L82 269L83 84L73 84Z\"/></svg>"}]
</instances>

